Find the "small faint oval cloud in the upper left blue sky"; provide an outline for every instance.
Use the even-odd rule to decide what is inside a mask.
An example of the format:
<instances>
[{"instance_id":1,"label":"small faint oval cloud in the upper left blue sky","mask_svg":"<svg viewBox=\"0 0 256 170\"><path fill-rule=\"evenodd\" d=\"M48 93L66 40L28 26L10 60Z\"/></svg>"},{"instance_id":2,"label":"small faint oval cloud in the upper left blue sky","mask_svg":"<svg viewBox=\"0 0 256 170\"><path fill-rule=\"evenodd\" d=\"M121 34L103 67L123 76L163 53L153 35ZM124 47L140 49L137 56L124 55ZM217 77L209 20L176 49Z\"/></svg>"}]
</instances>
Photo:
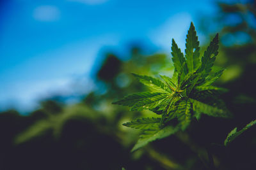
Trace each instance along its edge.
<instances>
[{"instance_id":1,"label":"small faint oval cloud in the upper left blue sky","mask_svg":"<svg viewBox=\"0 0 256 170\"><path fill-rule=\"evenodd\" d=\"M33 11L33 17L40 21L56 21L60 18L60 10L51 5L38 6Z\"/></svg>"}]
</instances>

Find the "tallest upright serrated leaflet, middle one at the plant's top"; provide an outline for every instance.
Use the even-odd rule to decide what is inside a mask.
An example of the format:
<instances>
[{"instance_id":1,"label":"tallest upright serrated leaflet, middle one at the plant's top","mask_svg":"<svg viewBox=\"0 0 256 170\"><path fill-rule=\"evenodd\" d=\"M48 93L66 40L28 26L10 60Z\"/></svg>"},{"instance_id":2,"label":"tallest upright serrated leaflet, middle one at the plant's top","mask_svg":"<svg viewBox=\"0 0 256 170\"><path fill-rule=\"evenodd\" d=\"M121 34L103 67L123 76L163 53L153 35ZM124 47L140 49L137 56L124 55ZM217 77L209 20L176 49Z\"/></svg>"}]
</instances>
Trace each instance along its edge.
<instances>
[{"instance_id":1,"label":"tallest upright serrated leaflet, middle one at the plant's top","mask_svg":"<svg viewBox=\"0 0 256 170\"><path fill-rule=\"evenodd\" d=\"M199 50L200 47L198 37L196 36L195 26L193 25L193 22L191 22L186 38L185 50L189 73L193 73L193 71L196 71L198 66L200 66Z\"/></svg>"}]
</instances>

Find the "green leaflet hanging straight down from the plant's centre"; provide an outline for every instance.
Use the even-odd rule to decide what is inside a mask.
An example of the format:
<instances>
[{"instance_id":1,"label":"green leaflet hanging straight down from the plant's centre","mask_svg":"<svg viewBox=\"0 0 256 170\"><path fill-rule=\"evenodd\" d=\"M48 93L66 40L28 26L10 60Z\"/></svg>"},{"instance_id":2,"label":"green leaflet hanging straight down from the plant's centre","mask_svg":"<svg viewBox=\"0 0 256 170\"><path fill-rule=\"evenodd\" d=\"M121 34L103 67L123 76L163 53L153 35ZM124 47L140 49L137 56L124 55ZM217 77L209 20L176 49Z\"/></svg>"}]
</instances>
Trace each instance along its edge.
<instances>
[{"instance_id":1,"label":"green leaflet hanging straight down from the plant's centre","mask_svg":"<svg viewBox=\"0 0 256 170\"><path fill-rule=\"evenodd\" d=\"M182 131L184 131L191 122L191 103L189 99L180 99L175 115L180 122Z\"/></svg>"}]
</instances>

